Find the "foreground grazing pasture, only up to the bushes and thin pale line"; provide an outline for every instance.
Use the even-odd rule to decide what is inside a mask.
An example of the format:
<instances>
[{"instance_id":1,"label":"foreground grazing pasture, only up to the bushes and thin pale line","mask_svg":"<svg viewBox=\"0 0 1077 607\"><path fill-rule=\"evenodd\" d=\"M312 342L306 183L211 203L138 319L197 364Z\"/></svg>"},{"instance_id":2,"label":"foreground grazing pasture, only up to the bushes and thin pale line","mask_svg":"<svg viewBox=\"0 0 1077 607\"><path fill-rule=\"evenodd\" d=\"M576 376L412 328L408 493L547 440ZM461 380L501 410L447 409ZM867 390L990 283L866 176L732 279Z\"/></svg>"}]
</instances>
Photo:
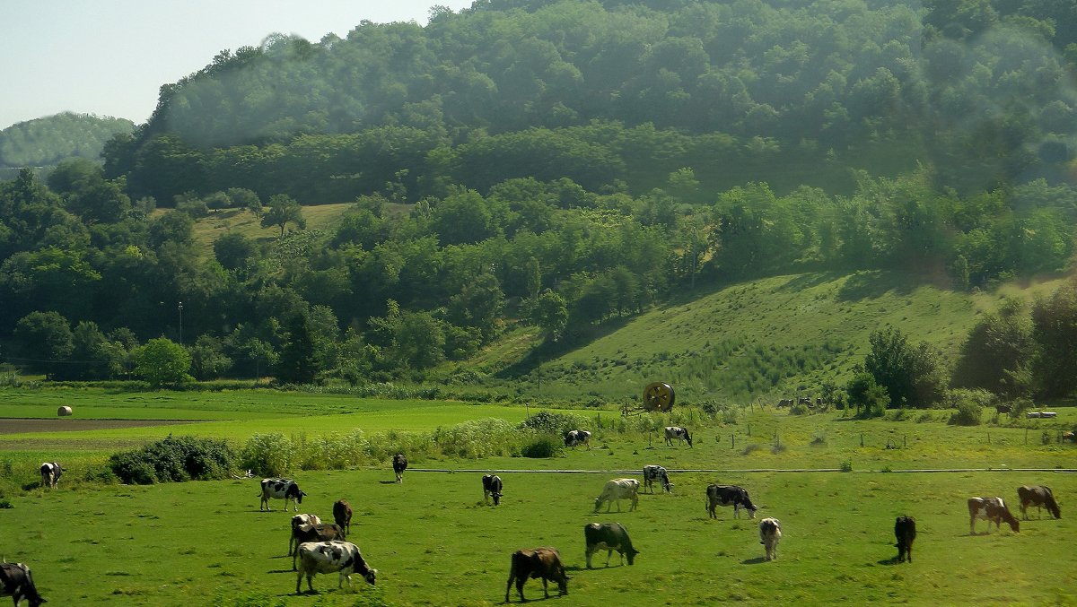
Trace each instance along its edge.
<instances>
[{"instance_id":1,"label":"foreground grazing pasture, only up to the bushes and thin pale line","mask_svg":"<svg viewBox=\"0 0 1077 607\"><path fill-rule=\"evenodd\" d=\"M651 454L673 463L685 452ZM577 451L562 463L605 460L614 458ZM637 511L625 503L611 513L592 513L592 500L619 476L614 469L503 472L499 508L481 505L479 476L410 470L396 484L388 468L295 475L309 494L300 511L330 518L334 500L350 500L350 539L379 570L376 589L356 577L353 591L318 576L313 596L293 595L291 512L280 502L260 512L256 479L81 491L61 481L0 510L0 532L5 557L30 564L57 605L492 605L504 598L512 551L535 546L560 549L573 577L558 601L565 605L1077 604L1069 474L674 474L672 494L642 495ZM777 561L763 559L757 521L735 520L728 508L708 519L712 481L745 486L761 505L758 518L782 521ZM1033 510L1019 534L1005 525L985 533L980 522L969 535L967 497L1012 503L1023 483L1052 486L1064 518L1039 520ZM912 564L893 562L893 521L903 513L918 520ZM584 567L582 527L592 521L629 530L641 551L634 566L619 566L615 553L609 568L598 555L596 569ZM529 581L524 594L542 598L541 584Z\"/></svg>"}]
</instances>

